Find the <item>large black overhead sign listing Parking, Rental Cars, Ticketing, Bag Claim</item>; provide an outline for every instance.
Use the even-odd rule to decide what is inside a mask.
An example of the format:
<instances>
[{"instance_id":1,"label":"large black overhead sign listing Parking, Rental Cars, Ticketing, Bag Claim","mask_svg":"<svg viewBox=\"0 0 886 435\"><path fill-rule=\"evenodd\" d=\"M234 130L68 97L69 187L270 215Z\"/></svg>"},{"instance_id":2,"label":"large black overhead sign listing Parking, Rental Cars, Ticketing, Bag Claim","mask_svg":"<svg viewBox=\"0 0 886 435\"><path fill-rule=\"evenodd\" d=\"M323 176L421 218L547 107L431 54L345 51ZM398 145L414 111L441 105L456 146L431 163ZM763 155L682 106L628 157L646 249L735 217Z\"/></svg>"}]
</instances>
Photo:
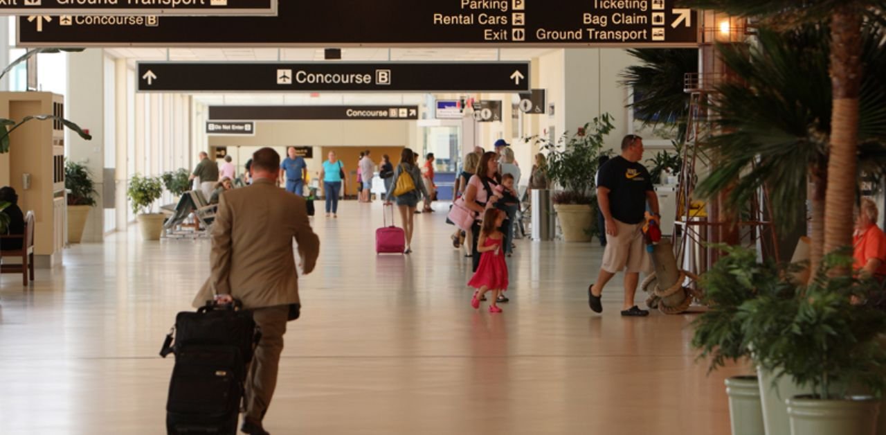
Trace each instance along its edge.
<instances>
[{"instance_id":1,"label":"large black overhead sign listing Parking, Rental Cars, Ticketing, Bag Claim","mask_svg":"<svg viewBox=\"0 0 886 435\"><path fill-rule=\"evenodd\" d=\"M676 7L676 1L324 0L282 2L276 17L162 17L152 23L81 17L67 25L57 17L49 17L51 20L46 22L21 17L18 44L24 47L242 45L275 48L388 48L416 44L697 46L696 12Z\"/></svg>"}]
</instances>

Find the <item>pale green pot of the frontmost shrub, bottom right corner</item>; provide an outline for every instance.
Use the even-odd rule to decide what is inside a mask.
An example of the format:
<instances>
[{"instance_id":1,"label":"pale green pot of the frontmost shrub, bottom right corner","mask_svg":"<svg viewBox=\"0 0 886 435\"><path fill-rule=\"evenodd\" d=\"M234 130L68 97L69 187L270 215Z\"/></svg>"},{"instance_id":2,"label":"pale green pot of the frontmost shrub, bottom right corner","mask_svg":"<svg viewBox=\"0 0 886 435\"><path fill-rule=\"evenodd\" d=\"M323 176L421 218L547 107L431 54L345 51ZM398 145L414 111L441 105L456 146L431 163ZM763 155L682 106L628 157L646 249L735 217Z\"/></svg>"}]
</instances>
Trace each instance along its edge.
<instances>
[{"instance_id":1,"label":"pale green pot of the frontmost shrub, bottom right corner","mask_svg":"<svg viewBox=\"0 0 886 435\"><path fill-rule=\"evenodd\" d=\"M788 400L792 435L874 435L880 400L854 397L818 400L794 396Z\"/></svg>"}]
</instances>

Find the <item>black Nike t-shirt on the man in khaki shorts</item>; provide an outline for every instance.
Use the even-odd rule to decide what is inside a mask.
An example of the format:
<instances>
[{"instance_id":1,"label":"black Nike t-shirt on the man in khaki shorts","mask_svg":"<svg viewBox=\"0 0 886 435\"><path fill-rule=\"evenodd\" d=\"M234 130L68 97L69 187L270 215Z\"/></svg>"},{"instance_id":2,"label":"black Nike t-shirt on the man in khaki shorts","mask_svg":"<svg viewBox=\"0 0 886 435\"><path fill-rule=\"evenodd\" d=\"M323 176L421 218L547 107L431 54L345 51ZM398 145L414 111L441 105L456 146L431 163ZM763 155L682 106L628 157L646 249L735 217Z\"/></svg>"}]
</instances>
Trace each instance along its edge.
<instances>
[{"instance_id":1,"label":"black Nike t-shirt on the man in khaki shorts","mask_svg":"<svg viewBox=\"0 0 886 435\"><path fill-rule=\"evenodd\" d=\"M610 190L610 212L618 221L637 224L646 211L646 192L653 191L646 167L618 156L600 168L597 185Z\"/></svg>"}]
</instances>

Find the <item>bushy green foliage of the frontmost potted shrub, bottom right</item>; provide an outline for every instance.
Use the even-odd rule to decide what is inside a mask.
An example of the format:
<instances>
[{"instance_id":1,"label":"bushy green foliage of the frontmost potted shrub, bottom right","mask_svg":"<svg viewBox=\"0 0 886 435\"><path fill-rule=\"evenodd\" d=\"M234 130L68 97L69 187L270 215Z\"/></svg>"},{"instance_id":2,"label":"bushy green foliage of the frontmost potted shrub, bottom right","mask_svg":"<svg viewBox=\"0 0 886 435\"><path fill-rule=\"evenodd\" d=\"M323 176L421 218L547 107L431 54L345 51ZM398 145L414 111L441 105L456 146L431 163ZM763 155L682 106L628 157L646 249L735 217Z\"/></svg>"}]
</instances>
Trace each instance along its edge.
<instances>
[{"instance_id":1,"label":"bushy green foliage of the frontmost potted shrub, bottom right","mask_svg":"<svg viewBox=\"0 0 886 435\"><path fill-rule=\"evenodd\" d=\"M753 359L776 379L789 376L816 397L841 400L848 388L875 395L886 388L886 313L854 304L878 288L871 278L828 274L851 268L849 250L824 257L812 283L791 298L760 295L742 304L738 318Z\"/></svg>"}]
</instances>

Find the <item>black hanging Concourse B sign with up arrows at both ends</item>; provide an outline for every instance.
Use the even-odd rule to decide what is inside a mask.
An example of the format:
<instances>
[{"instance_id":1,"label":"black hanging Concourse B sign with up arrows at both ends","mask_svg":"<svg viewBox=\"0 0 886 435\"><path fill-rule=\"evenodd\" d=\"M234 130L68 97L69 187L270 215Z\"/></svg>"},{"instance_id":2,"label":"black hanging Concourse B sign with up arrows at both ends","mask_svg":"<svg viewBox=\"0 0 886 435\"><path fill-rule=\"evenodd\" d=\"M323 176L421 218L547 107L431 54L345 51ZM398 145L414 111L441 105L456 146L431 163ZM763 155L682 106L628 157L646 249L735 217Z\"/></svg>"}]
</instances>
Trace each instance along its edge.
<instances>
[{"instance_id":1,"label":"black hanging Concourse B sign with up arrows at both ends","mask_svg":"<svg viewBox=\"0 0 886 435\"><path fill-rule=\"evenodd\" d=\"M141 92L519 92L529 63L140 62Z\"/></svg>"}]
</instances>

